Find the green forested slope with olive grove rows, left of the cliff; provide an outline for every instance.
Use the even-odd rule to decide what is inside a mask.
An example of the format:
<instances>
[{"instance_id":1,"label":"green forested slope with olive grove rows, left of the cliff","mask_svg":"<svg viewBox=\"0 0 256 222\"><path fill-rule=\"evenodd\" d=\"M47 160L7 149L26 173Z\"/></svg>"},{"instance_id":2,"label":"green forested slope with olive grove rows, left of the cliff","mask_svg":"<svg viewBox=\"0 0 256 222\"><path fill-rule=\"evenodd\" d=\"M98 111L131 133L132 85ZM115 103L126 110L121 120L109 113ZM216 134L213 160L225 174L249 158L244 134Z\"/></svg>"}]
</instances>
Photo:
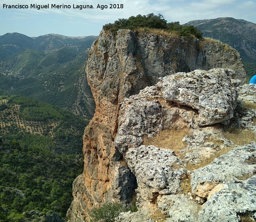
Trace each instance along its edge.
<instances>
[{"instance_id":1,"label":"green forested slope with olive grove rows, left of the cliff","mask_svg":"<svg viewBox=\"0 0 256 222\"><path fill-rule=\"evenodd\" d=\"M88 122L26 96L0 95L0 221L24 221L31 210L65 217Z\"/></svg>"}]
</instances>

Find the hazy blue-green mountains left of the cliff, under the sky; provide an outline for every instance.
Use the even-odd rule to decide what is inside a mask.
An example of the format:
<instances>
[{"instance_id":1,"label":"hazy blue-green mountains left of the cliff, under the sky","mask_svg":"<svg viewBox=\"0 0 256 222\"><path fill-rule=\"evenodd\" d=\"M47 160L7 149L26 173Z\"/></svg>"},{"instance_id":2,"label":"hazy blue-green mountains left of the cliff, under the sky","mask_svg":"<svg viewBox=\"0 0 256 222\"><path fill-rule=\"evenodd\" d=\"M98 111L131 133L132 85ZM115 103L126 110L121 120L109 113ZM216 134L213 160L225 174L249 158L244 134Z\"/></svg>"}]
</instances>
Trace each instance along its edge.
<instances>
[{"instance_id":1,"label":"hazy blue-green mountains left of the cliff, under the sky","mask_svg":"<svg viewBox=\"0 0 256 222\"><path fill-rule=\"evenodd\" d=\"M94 101L84 71L97 36L19 33L0 36L0 88L72 110L91 119Z\"/></svg>"}]
</instances>

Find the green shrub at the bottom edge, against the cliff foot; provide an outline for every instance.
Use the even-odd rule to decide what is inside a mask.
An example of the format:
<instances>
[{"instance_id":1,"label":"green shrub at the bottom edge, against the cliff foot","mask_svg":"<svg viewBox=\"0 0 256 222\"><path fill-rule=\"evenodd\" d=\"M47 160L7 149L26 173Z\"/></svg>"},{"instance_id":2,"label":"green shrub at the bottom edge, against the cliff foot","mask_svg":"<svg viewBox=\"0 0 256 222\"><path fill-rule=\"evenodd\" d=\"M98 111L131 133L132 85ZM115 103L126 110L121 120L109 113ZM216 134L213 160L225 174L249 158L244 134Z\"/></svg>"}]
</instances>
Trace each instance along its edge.
<instances>
[{"instance_id":1,"label":"green shrub at the bottom edge, against the cliff foot","mask_svg":"<svg viewBox=\"0 0 256 222\"><path fill-rule=\"evenodd\" d=\"M100 208L93 208L90 217L92 222L114 222L115 218L123 211L120 203L105 203Z\"/></svg>"}]
</instances>

